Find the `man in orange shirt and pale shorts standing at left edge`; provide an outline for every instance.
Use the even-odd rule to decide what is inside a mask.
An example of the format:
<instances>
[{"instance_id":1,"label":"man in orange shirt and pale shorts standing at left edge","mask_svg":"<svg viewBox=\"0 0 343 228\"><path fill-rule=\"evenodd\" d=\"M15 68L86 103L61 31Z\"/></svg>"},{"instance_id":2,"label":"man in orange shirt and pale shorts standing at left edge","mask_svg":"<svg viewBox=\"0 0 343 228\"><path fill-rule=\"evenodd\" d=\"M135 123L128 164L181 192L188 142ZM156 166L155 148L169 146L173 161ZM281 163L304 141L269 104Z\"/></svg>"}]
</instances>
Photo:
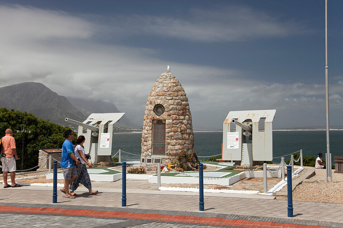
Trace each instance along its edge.
<instances>
[{"instance_id":1,"label":"man in orange shirt and pale shorts standing at left edge","mask_svg":"<svg viewBox=\"0 0 343 228\"><path fill-rule=\"evenodd\" d=\"M12 137L13 131L11 129L7 129L5 131L6 135L2 137L1 144L1 153L5 154L5 157L1 156L1 162L2 162L2 176L3 176L3 188L16 188L21 187L21 185L18 185L15 183L15 170L16 170L16 164L15 160L18 160L17 151L15 148L15 140ZM11 182L12 184L9 185L7 183L7 174L10 172L11 174Z\"/></svg>"}]
</instances>

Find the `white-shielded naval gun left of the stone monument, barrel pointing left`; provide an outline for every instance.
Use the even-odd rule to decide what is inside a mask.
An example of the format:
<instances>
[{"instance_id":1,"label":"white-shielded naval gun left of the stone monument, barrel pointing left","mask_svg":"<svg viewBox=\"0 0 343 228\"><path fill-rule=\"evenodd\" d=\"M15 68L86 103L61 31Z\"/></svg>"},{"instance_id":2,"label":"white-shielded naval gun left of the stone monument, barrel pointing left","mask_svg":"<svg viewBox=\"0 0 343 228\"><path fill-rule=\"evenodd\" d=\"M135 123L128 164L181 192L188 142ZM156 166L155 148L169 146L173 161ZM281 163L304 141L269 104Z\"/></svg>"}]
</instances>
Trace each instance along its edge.
<instances>
[{"instance_id":1,"label":"white-shielded naval gun left of the stone monument, barrel pointing left","mask_svg":"<svg viewBox=\"0 0 343 228\"><path fill-rule=\"evenodd\" d=\"M70 118L65 121L78 125L78 136L85 136L83 144L86 154L91 155L94 165L109 165L111 162L113 124L125 113L92 113L82 123ZM84 128L86 128L85 134Z\"/></svg>"}]
</instances>

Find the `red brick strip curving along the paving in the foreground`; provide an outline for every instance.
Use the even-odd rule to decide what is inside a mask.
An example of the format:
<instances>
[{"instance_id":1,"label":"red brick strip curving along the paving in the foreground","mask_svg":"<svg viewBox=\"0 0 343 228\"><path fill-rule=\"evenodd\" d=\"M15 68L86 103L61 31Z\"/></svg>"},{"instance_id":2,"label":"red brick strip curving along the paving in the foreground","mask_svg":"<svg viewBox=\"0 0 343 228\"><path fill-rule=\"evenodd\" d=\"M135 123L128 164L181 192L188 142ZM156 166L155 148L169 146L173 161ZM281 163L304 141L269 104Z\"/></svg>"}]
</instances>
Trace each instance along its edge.
<instances>
[{"instance_id":1,"label":"red brick strip curving along the paving in the foreground","mask_svg":"<svg viewBox=\"0 0 343 228\"><path fill-rule=\"evenodd\" d=\"M0 206L0 212L76 215L76 216L91 215L93 217L133 218L133 219L156 220L156 221L175 221L179 223L192 223L192 224L240 226L240 227L247 227L247 228L275 228L275 227L278 227L278 228L321 228L323 227L323 226L319 227L319 226L271 223L271 222L237 220L237 219L226 219L226 218L208 218L208 217L196 217L196 216L161 215L161 214L146 214L146 213L131 213L131 212L109 212L109 211L93 211L93 210L78 210L78 209L76 210L76 209L45 208L45 207Z\"/></svg>"}]
</instances>

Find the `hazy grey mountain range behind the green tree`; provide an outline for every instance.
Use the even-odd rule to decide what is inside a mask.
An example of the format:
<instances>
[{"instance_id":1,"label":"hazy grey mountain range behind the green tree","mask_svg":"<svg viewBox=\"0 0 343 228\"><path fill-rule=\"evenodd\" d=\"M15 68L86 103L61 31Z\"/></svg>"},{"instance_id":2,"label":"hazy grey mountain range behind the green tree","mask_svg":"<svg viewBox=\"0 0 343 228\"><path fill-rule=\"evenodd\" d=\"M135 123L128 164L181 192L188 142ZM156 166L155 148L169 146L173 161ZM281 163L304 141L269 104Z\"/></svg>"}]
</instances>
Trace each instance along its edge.
<instances>
[{"instance_id":1,"label":"hazy grey mountain range behind the green tree","mask_svg":"<svg viewBox=\"0 0 343 228\"><path fill-rule=\"evenodd\" d=\"M70 126L66 117L83 122L91 113L120 112L110 102L66 98L42 83L26 82L0 88L0 107L33 113L50 122ZM124 115L114 126L139 129Z\"/></svg>"}]
</instances>

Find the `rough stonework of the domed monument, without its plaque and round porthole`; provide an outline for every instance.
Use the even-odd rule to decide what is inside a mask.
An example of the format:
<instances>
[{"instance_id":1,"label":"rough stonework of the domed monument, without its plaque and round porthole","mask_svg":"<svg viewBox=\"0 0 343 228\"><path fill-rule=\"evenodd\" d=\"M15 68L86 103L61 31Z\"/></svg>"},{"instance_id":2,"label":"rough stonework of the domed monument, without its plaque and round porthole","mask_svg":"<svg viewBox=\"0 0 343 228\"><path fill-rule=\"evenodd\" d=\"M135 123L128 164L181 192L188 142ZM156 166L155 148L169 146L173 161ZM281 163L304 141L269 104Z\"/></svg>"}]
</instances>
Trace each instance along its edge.
<instances>
[{"instance_id":1,"label":"rough stonework of the domed monument, without its plaque and round porthole","mask_svg":"<svg viewBox=\"0 0 343 228\"><path fill-rule=\"evenodd\" d=\"M160 116L154 112L156 104L164 106L165 111ZM163 121L166 126L165 155L153 154L153 121L157 120ZM194 152L192 116L188 98L180 82L171 73L163 73L156 80L149 94L145 108L141 148L142 157L160 157L162 163L178 161L178 154L181 152L188 154ZM149 167L149 165L141 165Z\"/></svg>"}]
</instances>

